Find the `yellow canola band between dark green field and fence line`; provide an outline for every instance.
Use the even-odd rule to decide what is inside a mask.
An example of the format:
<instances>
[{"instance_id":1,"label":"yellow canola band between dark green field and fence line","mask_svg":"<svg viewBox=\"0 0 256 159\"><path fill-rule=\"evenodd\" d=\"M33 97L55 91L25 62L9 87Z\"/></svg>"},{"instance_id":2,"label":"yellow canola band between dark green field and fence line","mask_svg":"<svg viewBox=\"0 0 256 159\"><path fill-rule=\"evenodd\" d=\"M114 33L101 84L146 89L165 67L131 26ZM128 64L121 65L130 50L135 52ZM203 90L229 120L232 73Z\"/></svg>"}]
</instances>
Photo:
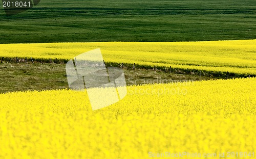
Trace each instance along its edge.
<instances>
[{"instance_id":1,"label":"yellow canola band between dark green field and fence line","mask_svg":"<svg viewBox=\"0 0 256 159\"><path fill-rule=\"evenodd\" d=\"M69 60L96 48L106 62L256 74L256 40L0 44L0 56Z\"/></svg>"}]
</instances>

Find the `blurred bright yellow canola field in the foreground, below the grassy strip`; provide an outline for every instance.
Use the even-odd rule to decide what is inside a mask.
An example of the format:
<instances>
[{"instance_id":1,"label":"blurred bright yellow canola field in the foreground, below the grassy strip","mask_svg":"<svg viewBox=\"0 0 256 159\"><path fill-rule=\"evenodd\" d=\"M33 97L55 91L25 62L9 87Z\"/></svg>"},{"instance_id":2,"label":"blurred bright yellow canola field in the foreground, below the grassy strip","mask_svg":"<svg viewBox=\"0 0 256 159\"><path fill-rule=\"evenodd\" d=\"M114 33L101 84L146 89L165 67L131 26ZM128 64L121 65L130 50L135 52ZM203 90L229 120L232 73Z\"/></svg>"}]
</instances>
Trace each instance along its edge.
<instances>
[{"instance_id":1,"label":"blurred bright yellow canola field in the foreground, below the grassy strip","mask_svg":"<svg viewBox=\"0 0 256 159\"><path fill-rule=\"evenodd\" d=\"M129 86L97 111L84 92L0 94L0 158L253 158L255 86L256 78Z\"/></svg>"}]
</instances>

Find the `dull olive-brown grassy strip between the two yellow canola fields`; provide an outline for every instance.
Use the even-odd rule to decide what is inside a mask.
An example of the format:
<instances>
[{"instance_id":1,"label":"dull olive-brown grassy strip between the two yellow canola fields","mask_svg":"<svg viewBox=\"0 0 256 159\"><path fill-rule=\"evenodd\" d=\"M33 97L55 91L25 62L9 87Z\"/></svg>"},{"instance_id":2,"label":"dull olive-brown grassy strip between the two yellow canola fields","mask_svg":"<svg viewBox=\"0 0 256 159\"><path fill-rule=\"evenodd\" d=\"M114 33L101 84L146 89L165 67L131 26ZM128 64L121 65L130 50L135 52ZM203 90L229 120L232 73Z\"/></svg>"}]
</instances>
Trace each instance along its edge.
<instances>
[{"instance_id":1,"label":"dull olive-brown grassy strip between the two yellow canola fields","mask_svg":"<svg viewBox=\"0 0 256 159\"><path fill-rule=\"evenodd\" d=\"M56 90L69 88L65 64L3 63L0 64L0 93L27 90ZM185 82L217 79L197 74L166 73L162 70L124 67L126 85Z\"/></svg>"}]
</instances>

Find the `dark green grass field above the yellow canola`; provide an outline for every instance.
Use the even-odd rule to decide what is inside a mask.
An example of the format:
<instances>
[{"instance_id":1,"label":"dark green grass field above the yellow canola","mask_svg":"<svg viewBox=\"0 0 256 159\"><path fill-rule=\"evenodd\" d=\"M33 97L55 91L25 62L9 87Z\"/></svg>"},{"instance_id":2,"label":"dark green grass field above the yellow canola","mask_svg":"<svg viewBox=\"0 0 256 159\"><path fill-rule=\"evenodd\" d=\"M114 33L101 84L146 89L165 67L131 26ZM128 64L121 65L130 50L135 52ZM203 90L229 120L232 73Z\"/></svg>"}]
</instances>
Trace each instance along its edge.
<instances>
[{"instance_id":1,"label":"dark green grass field above the yellow canola","mask_svg":"<svg viewBox=\"0 0 256 159\"><path fill-rule=\"evenodd\" d=\"M0 43L256 38L254 0L41 0L13 16L2 6Z\"/></svg>"}]
</instances>

